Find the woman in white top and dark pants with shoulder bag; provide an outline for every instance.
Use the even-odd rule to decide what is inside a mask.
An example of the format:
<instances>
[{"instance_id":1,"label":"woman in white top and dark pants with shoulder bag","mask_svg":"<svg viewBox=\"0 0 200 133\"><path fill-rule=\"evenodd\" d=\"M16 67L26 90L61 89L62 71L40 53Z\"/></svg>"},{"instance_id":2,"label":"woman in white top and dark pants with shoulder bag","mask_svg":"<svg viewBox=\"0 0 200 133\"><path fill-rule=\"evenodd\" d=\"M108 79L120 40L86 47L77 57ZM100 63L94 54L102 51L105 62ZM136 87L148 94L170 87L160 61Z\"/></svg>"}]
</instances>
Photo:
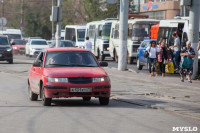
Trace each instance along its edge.
<instances>
[{"instance_id":1,"label":"woman in white top and dark pants with shoulder bag","mask_svg":"<svg viewBox=\"0 0 200 133\"><path fill-rule=\"evenodd\" d=\"M146 48L146 51L149 52L149 57L147 58L147 62L149 65L149 73L150 77L155 76L155 66L156 66L156 54L157 52L160 52L160 49L157 47L156 42L152 41L150 42L150 46ZM153 64L153 69L151 70L151 64Z\"/></svg>"}]
</instances>

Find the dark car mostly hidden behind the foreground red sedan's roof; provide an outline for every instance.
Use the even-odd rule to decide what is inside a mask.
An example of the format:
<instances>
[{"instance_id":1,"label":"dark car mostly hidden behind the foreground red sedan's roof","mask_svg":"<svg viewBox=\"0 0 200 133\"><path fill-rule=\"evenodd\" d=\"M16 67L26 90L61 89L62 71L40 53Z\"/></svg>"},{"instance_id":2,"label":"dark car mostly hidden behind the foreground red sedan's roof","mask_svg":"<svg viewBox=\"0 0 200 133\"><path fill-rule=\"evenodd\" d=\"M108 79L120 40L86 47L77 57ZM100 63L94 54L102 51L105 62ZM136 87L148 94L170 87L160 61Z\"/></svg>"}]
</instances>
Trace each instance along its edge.
<instances>
[{"instance_id":1,"label":"dark car mostly hidden behind the foreground red sedan's roof","mask_svg":"<svg viewBox=\"0 0 200 133\"><path fill-rule=\"evenodd\" d=\"M56 41L52 41L50 44L50 48L54 48L56 46ZM60 45L58 47L75 47L75 43L70 40L61 40Z\"/></svg>"}]
</instances>

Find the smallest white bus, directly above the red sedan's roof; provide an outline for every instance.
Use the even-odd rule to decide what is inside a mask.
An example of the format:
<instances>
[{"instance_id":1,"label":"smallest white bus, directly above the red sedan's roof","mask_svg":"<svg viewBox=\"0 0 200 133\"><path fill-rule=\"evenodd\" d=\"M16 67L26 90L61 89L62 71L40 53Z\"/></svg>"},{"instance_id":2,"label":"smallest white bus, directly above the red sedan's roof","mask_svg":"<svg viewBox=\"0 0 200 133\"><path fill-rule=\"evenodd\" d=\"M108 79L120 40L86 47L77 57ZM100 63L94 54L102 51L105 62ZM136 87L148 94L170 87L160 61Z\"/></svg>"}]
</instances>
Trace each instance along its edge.
<instances>
[{"instance_id":1,"label":"smallest white bus, directly above the red sedan's roof","mask_svg":"<svg viewBox=\"0 0 200 133\"><path fill-rule=\"evenodd\" d=\"M76 47L83 48L85 41L85 26L66 25L64 40L71 40Z\"/></svg>"}]
</instances>

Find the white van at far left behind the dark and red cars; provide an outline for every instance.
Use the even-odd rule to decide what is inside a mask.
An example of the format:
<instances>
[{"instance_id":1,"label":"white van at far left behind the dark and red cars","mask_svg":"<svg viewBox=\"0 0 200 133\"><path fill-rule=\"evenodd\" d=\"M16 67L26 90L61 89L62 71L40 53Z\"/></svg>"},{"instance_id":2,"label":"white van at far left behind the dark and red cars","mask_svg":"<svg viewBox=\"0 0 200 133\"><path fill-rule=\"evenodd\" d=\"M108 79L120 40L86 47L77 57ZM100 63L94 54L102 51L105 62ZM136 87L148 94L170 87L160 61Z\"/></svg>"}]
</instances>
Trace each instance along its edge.
<instances>
[{"instance_id":1,"label":"white van at far left behind the dark and red cars","mask_svg":"<svg viewBox=\"0 0 200 133\"><path fill-rule=\"evenodd\" d=\"M20 29L6 29L3 31L3 35L7 35L9 41L11 41L11 39L22 39L22 32Z\"/></svg>"}]
</instances>

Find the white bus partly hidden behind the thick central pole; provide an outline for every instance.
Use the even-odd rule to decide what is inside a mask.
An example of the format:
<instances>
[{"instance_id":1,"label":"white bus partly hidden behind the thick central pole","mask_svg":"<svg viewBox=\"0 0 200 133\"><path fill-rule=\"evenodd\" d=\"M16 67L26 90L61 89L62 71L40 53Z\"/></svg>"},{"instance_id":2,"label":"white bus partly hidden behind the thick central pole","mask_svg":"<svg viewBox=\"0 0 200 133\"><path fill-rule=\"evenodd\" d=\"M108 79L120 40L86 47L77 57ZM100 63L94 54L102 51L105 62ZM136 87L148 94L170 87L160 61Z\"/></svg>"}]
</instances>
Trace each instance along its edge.
<instances>
[{"instance_id":1,"label":"white bus partly hidden behind the thick central pole","mask_svg":"<svg viewBox=\"0 0 200 133\"><path fill-rule=\"evenodd\" d=\"M137 49L145 39L151 39L151 26L159 23L154 19L130 19L128 20L128 40L127 40L127 58L128 63L132 64L137 58ZM110 56L118 62L119 53L119 21L113 22L109 43Z\"/></svg>"}]
</instances>

